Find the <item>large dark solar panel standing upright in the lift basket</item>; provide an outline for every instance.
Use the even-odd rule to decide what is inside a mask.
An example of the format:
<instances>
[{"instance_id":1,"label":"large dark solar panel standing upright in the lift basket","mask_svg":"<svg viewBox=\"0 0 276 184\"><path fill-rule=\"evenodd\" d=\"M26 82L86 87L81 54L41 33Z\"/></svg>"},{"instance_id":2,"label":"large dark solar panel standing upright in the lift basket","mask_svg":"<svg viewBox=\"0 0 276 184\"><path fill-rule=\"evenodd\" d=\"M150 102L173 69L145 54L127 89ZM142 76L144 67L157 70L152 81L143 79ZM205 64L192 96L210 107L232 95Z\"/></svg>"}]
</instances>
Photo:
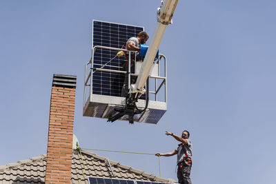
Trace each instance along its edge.
<instances>
[{"instance_id":1,"label":"large dark solar panel standing upright in the lift basket","mask_svg":"<svg viewBox=\"0 0 276 184\"><path fill-rule=\"evenodd\" d=\"M137 25L126 25L121 23L110 23L106 21L92 21L92 46L102 45L112 48L121 48L130 37L144 31L144 27ZM93 68L101 68L115 57L116 50L98 48L95 52ZM116 57L103 69L122 71L124 57ZM121 88L124 84L125 74L115 72L97 71L93 74L92 93L108 96L121 96Z\"/></svg>"}]
</instances>

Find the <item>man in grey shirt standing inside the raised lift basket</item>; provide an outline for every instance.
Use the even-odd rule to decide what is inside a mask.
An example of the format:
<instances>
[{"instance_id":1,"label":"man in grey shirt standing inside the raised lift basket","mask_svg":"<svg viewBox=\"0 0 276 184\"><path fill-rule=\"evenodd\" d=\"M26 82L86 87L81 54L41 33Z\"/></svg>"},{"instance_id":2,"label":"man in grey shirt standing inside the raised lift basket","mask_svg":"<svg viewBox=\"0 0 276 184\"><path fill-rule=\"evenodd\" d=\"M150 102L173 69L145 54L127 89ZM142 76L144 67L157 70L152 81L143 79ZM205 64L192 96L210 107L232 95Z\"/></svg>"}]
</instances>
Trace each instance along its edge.
<instances>
[{"instance_id":1,"label":"man in grey shirt standing inside the raised lift basket","mask_svg":"<svg viewBox=\"0 0 276 184\"><path fill-rule=\"evenodd\" d=\"M131 37L130 39L128 39L128 41L126 42L126 50L134 50L134 51L139 51L140 44L145 44L146 41L148 41L148 34L144 31L141 31L137 34L137 37ZM134 55L131 57L131 64L130 64L130 72L134 73L135 72L135 65L134 65ZM128 53L126 53L126 60L128 60ZM123 68L124 70L126 70L128 72L128 62L124 62L123 64ZM131 76L130 77L130 83L135 83L136 81L135 76ZM126 74L125 76L125 81L124 81L124 85L123 88L121 90L121 96L127 96L128 94L128 74Z\"/></svg>"}]
</instances>

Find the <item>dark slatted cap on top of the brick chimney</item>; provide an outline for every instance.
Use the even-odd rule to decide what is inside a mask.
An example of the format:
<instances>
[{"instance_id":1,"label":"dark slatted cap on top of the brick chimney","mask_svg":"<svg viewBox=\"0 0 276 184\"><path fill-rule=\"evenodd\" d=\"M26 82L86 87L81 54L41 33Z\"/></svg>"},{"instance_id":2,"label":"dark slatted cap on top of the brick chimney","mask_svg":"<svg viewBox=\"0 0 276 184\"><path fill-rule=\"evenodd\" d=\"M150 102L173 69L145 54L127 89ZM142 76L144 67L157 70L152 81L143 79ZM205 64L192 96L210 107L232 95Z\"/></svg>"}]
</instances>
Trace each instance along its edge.
<instances>
[{"instance_id":1,"label":"dark slatted cap on top of the brick chimney","mask_svg":"<svg viewBox=\"0 0 276 184\"><path fill-rule=\"evenodd\" d=\"M52 78L52 86L63 88L76 88L77 76L66 74L54 74Z\"/></svg>"}]
</instances>

